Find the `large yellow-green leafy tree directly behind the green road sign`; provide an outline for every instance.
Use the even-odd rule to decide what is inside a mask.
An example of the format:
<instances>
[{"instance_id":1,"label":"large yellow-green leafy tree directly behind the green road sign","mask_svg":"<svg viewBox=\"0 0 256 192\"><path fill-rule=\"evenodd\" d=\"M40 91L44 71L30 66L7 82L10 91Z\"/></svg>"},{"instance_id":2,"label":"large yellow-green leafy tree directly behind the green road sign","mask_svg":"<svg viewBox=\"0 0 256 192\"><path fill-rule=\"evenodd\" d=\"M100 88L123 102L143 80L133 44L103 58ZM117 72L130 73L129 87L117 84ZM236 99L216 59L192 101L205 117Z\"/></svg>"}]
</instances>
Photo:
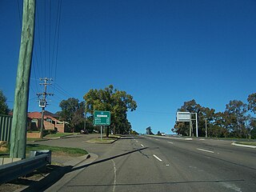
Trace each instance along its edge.
<instances>
[{"instance_id":1,"label":"large yellow-green leafy tree directly behind the green road sign","mask_svg":"<svg viewBox=\"0 0 256 192\"><path fill-rule=\"evenodd\" d=\"M86 101L86 111L93 115L94 110L108 110L111 114L110 128L114 134L126 134L130 132L130 122L127 120L128 110L137 108L137 103L130 94L124 90L114 89L113 85L104 90L89 90L83 97ZM109 134L109 127L106 128L106 136Z\"/></svg>"}]
</instances>

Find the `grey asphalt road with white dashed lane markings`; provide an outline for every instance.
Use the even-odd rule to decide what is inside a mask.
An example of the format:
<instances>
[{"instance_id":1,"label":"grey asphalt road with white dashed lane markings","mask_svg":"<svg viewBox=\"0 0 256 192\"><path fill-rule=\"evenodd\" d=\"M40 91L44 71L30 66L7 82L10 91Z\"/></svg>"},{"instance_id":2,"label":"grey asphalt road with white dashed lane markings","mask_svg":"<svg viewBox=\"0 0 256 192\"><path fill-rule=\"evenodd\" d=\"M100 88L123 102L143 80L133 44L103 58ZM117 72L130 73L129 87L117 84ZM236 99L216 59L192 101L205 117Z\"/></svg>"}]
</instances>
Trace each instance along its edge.
<instances>
[{"instance_id":1,"label":"grey asphalt road with white dashed lane markings","mask_svg":"<svg viewBox=\"0 0 256 192\"><path fill-rule=\"evenodd\" d=\"M230 144L123 137L47 191L256 191L256 150Z\"/></svg>"}]
</instances>

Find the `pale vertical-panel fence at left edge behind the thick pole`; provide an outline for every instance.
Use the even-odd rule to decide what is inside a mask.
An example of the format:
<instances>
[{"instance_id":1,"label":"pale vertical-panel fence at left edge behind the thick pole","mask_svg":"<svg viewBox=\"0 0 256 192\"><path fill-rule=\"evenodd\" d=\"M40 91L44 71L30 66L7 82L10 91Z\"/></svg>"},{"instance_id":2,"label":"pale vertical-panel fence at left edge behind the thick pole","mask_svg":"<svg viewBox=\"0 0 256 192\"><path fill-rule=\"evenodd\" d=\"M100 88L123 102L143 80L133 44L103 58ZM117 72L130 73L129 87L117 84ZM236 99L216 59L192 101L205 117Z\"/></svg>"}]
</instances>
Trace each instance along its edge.
<instances>
[{"instance_id":1,"label":"pale vertical-panel fence at left edge behind the thick pole","mask_svg":"<svg viewBox=\"0 0 256 192\"><path fill-rule=\"evenodd\" d=\"M10 130L13 117L0 114L0 141L10 142Z\"/></svg>"}]
</instances>

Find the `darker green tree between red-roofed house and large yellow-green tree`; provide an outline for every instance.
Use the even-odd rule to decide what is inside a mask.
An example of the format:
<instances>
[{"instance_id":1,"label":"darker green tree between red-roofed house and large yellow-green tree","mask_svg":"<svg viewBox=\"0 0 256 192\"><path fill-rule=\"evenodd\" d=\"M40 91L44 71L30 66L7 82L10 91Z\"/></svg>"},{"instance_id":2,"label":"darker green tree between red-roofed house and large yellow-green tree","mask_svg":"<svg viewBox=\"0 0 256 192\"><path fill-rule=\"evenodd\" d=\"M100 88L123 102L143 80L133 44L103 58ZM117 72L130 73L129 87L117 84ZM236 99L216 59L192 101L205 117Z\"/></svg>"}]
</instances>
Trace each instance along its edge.
<instances>
[{"instance_id":1,"label":"darker green tree between red-roofed house and large yellow-green tree","mask_svg":"<svg viewBox=\"0 0 256 192\"><path fill-rule=\"evenodd\" d=\"M62 100L59 106L62 108L62 111L58 112L60 120L69 122L73 132L81 130L85 120L85 103L79 102L77 98L68 98Z\"/></svg>"}]
</instances>

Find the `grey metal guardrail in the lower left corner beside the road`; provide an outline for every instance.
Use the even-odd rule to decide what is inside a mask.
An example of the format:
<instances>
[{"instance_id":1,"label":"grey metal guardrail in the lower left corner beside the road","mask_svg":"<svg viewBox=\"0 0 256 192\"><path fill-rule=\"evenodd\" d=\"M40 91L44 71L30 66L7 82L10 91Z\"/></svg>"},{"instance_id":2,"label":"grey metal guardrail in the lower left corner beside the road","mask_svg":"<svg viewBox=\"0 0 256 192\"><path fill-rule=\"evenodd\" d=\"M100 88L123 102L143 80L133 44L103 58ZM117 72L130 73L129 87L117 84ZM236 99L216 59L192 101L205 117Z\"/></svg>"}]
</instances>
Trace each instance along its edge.
<instances>
[{"instance_id":1,"label":"grey metal guardrail in the lower left corner beside the road","mask_svg":"<svg viewBox=\"0 0 256 192\"><path fill-rule=\"evenodd\" d=\"M18 162L0 166L0 184L10 182L18 177L30 174L49 163L50 154L40 154L34 158L22 159Z\"/></svg>"}]
</instances>

